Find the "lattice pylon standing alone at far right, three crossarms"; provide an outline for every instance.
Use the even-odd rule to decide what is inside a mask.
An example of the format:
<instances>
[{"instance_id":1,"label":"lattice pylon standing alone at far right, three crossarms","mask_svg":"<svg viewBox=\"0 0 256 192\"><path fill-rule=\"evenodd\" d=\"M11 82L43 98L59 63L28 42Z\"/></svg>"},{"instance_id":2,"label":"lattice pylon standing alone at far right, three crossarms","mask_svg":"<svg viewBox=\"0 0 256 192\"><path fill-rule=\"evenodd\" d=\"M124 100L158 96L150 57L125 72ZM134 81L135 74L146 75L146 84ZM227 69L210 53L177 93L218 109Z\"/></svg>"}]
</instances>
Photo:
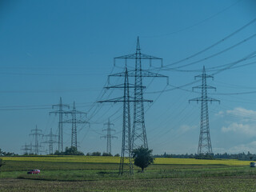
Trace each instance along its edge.
<instances>
[{"instance_id":1,"label":"lattice pylon standing alone at far right, three crossarms","mask_svg":"<svg viewBox=\"0 0 256 192\"><path fill-rule=\"evenodd\" d=\"M202 74L195 76L195 78L202 78L201 86L194 86L194 89L201 89L202 96L200 98L190 99L189 102L201 102L201 121L200 121L200 135L198 142L198 154L212 154L212 146L210 142L210 126L209 126L209 113L208 102L220 102L217 99L209 98L207 96L207 89L214 89L214 86L207 86L206 78L214 78L211 75L206 74L205 66L203 66Z\"/></svg>"}]
</instances>

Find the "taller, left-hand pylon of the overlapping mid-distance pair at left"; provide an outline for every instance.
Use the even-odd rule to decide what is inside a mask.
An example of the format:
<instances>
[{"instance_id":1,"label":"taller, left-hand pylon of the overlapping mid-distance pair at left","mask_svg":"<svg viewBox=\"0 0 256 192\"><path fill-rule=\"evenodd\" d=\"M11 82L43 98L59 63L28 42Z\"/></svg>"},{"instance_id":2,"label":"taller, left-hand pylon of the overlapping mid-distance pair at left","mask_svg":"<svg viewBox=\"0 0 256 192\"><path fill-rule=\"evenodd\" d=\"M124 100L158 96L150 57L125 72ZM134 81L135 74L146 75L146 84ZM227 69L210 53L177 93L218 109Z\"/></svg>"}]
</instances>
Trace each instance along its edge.
<instances>
[{"instance_id":1,"label":"taller, left-hand pylon of the overlapping mid-distance pair at left","mask_svg":"<svg viewBox=\"0 0 256 192\"><path fill-rule=\"evenodd\" d=\"M59 104L53 105L52 108L58 107L58 110L50 112L50 114L58 114L58 151L63 151L63 126L62 126L62 115L69 114L69 111L63 110L63 107L70 108L69 105L62 104L62 97L59 99Z\"/></svg>"}]
</instances>

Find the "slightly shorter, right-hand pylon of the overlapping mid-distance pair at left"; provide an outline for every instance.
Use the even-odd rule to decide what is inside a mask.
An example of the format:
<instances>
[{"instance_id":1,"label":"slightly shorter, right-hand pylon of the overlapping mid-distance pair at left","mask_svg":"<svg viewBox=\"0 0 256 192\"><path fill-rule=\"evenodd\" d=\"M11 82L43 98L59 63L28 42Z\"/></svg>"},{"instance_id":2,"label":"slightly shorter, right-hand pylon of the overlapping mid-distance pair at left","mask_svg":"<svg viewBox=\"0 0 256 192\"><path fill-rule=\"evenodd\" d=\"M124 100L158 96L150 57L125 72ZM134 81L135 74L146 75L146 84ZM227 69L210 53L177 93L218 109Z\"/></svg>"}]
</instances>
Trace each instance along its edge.
<instances>
[{"instance_id":1,"label":"slightly shorter, right-hand pylon of the overlapping mid-distance pair at left","mask_svg":"<svg viewBox=\"0 0 256 192\"><path fill-rule=\"evenodd\" d=\"M86 114L85 112L78 111L75 109L75 103L73 104L73 110L69 112L72 115L72 119L66 120L63 123L72 123L71 130L71 146L74 146L75 149L78 149L78 133L77 133L77 124L78 123L89 123L87 121L82 121L77 119L77 114Z\"/></svg>"}]
</instances>

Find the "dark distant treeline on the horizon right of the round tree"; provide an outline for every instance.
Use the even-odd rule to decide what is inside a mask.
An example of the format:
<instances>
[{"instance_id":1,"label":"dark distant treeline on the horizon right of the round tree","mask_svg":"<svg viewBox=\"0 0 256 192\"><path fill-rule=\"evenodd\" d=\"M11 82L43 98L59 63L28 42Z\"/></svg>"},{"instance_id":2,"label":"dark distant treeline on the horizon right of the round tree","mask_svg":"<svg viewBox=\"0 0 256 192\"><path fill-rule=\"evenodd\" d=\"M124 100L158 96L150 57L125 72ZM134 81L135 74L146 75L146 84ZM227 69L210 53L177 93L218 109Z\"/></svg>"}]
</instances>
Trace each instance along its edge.
<instances>
[{"instance_id":1,"label":"dark distant treeline on the horizon right of the round tree","mask_svg":"<svg viewBox=\"0 0 256 192\"><path fill-rule=\"evenodd\" d=\"M198 159L218 159L218 158L226 158L226 159L238 159L238 160L250 160L256 161L256 154L250 154L248 151L247 154L156 154L154 158L198 158Z\"/></svg>"}]
</instances>

